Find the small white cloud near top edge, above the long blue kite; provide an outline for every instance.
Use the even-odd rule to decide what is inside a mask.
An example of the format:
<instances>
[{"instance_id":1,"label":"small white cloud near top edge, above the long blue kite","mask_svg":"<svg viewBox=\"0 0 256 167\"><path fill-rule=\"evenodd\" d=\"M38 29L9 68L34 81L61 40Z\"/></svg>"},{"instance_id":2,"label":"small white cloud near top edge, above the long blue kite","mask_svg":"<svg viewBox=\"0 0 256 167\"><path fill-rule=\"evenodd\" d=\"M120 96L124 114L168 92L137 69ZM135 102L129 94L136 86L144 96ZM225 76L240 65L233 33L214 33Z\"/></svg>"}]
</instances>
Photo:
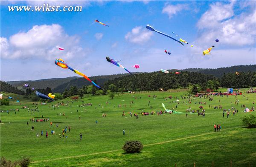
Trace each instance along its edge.
<instances>
[{"instance_id":1,"label":"small white cloud near top edge, above the long blue kite","mask_svg":"<svg viewBox=\"0 0 256 167\"><path fill-rule=\"evenodd\" d=\"M166 5L163 8L162 13L168 14L169 19L171 19L179 11L183 11L187 9L188 9L188 6L186 4Z\"/></svg>"}]
</instances>

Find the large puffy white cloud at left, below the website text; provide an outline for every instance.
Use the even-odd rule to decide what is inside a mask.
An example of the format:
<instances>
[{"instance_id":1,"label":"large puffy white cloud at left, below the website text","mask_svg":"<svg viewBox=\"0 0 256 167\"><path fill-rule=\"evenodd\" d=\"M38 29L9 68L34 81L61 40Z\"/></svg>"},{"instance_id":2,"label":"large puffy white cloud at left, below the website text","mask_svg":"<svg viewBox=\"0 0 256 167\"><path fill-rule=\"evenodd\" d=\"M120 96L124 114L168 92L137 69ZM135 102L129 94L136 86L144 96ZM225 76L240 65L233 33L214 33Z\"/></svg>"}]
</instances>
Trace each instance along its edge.
<instances>
[{"instance_id":1,"label":"large puffy white cloud at left, below the website text","mask_svg":"<svg viewBox=\"0 0 256 167\"><path fill-rule=\"evenodd\" d=\"M35 25L27 32L12 35L9 40L1 37L1 58L52 60L61 57L70 59L75 55L85 56L79 46L79 37L65 34L61 25ZM58 47L64 48L59 51ZM3 51L3 52L2 52Z\"/></svg>"}]
</instances>

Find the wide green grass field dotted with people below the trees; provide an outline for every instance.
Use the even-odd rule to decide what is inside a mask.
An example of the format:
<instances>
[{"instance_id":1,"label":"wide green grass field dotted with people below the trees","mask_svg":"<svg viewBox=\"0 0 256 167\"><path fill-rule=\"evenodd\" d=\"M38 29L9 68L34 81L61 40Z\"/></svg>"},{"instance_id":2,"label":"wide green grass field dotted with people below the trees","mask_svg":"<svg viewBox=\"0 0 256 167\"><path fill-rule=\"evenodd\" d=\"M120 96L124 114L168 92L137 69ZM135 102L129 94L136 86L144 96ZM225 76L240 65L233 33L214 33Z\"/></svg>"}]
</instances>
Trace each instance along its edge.
<instances>
[{"instance_id":1,"label":"wide green grass field dotted with people below the trees","mask_svg":"<svg viewBox=\"0 0 256 167\"><path fill-rule=\"evenodd\" d=\"M230 159L233 167L249 167L249 164L251 167L256 166L256 129L244 128L241 122L243 116L256 114L255 111L243 113L244 108L241 107L246 105L247 108L252 108L253 101L256 102L256 93L244 94L245 97L214 96L213 101L196 98L192 99L190 105L186 105L187 101L181 99L181 96L185 96L184 90L116 94L114 99L86 95L73 103L71 99L64 99L64 102L69 101L70 106L55 107L55 110L52 105L61 101L38 105L39 112L20 109L22 106L33 108L33 104L26 99L19 99L18 95L9 95L15 100L9 106L1 106L1 110L18 108L19 111L16 114L14 111L9 114L0 113L0 153L11 160L28 156L32 160L31 167L171 167L175 163L177 167L192 167L193 162L197 167L210 167L212 161L215 167L230 167ZM153 98L153 95L157 97ZM164 99L170 95L172 99ZM177 104L175 96L180 99L180 104ZM17 99L21 105L16 102ZM239 100L239 105L235 105L236 99ZM81 100L92 103L92 106L79 107ZM106 104L107 101L110 104ZM203 105L205 117L189 113L186 118L189 106L192 110L199 109L199 104L195 102L207 102L207 105ZM160 111L163 110L162 103L166 108L177 105L177 111L183 114L140 115L138 119L128 114L129 111ZM225 113L223 118L223 109L211 108L214 105L222 105L223 109L235 107L239 112L235 116L230 114L229 118ZM57 116L57 113L65 113L65 116ZM102 117L103 113L107 114L105 118ZM42 115L49 118L49 122L30 122L31 118ZM52 127L50 122L53 122ZM221 125L220 132L214 132L214 124ZM34 131L31 130L32 125L35 127ZM58 133L65 126L71 126L70 132L66 133L68 137L59 138ZM125 136L122 134L123 129ZM42 137L41 130L44 131ZM45 136L46 130L49 132L48 139ZM56 134L52 136L51 130ZM36 137L36 133L40 137ZM82 140L80 133L83 134ZM144 149L141 153L125 154L122 146L127 140L141 141Z\"/></svg>"}]
</instances>

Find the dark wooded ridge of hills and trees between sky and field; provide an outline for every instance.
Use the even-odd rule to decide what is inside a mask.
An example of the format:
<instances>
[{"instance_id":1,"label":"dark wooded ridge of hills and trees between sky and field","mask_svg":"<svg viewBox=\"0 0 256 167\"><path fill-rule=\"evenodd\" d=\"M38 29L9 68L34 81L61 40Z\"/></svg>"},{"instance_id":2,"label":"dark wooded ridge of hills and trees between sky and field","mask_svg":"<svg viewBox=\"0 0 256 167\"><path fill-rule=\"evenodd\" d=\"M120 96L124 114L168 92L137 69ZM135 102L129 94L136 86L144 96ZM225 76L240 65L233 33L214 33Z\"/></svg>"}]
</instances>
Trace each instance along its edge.
<instances>
[{"instance_id":1,"label":"dark wooded ridge of hills and trees between sky and field","mask_svg":"<svg viewBox=\"0 0 256 167\"><path fill-rule=\"evenodd\" d=\"M180 74L174 74L179 71ZM240 75L236 75L238 71ZM170 74L164 74L159 71L151 73L136 73L136 77L130 74L116 74L105 76L91 76L90 79L96 81L98 85L109 90L110 85L116 87L115 91L157 91L172 88L188 88L191 85L197 85L202 91L208 87L233 87L243 88L256 86L256 65L237 65L227 68L204 69L188 68L184 70L169 70ZM64 93L65 96L73 95L79 89L86 90L84 93L100 94L106 93L95 89L90 82L82 77L68 77L59 79L41 79L37 81L12 81L12 85L19 85L22 88L24 83L30 84L35 89L51 89L53 93ZM209 86L209 85L214 86ZM43 86L44 85L44 86ZM68 90L73 89L73 93ZM74 89L76 88L76 89ZM95 90L94 90L95 89ZM16 90L17 91L17 90ZM48 91L47 91L48 92ZM27 94L27 93L26 93Z\"/></svg>"}]
</instances>

